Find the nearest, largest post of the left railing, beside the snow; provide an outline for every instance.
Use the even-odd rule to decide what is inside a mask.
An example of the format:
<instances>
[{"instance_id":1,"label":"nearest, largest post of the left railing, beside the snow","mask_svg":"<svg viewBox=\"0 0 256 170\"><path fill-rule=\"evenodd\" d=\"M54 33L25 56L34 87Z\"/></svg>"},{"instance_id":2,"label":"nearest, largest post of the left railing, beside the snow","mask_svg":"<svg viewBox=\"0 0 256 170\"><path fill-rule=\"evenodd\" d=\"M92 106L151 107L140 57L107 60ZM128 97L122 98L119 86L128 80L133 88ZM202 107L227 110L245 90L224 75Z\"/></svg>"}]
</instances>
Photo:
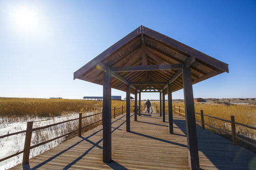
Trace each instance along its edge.
<instances>
[{"instance_id":1,"label":"nearest, largest post of the left railing, beside the snow","mask_svg":"<svg viewBox=\"0 0 256 170\"><path fill-rule=\"evenodd\" d=\"M23 153L23 159L22 159L23 164L29 162L32 128L33 128L33 121L28 121L27 122L27 132L26 132L26 137L25 137L25 144L24 144L24 153Z\"/></svg>"}]
</instances>

